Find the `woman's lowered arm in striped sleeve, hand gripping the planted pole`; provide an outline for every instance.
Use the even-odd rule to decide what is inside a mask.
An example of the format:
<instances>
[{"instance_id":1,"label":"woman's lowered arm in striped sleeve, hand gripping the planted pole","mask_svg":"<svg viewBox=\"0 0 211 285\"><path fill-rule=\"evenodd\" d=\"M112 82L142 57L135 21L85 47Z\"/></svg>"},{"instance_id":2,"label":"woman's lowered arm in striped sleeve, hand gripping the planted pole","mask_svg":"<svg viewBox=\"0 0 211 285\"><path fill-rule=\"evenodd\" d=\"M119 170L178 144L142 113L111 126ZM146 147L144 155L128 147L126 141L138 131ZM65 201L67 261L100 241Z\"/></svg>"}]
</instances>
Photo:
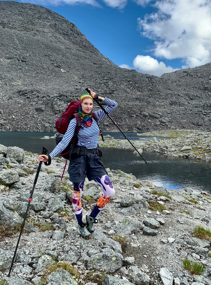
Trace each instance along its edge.
<instances>
[{"instance_id":1,"label":"woman's lowered arm in striped sleeve, hand gripping the planted pole","mask_svg":"<svg viewBox=\"0 0 211 285\"><path fill-rule=\"evenodd\" d=\"M60 143L57 144L57 146L54 148L54 150L50 153L51 158L53 159L57 154L61 153L69 144L72 137L74 136L74 132L76 129L76 119L73 119L70 121L70 124L67 128L66 133L64 134L64 137L60 141ZM39 155L39 161L47 162L48 156L46 155Z\"/></svg>"}]
</instances>

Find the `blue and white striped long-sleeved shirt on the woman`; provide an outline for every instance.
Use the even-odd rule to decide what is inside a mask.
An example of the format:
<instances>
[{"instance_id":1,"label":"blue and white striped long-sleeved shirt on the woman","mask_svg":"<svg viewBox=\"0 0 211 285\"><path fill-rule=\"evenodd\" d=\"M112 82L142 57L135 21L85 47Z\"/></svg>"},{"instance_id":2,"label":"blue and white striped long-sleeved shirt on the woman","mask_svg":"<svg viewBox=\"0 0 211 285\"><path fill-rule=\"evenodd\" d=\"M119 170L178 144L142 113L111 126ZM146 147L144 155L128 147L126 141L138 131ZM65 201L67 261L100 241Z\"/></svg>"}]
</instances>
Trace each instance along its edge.
<instances>
[{"instance_id":1,"label":"blue and white striped long-sleeved shirt on the woman","mask_svg":"<svg viewBox=\"0 0 211 285\"><path fill-rule=\"evenodd\" d=\"M116 107L117 107L117 102L108 99L105 97L103 103L107 105L105 110L107 113L111 113ZM97 119L98 123L106 117L106 114L104 113L103 110L98 110L94 112ZM54 150L50 153L52 158L54 158L57 154L61 153L69 144L70 140L74 136L74 131L76 128L76 119L72 119L70 121L70 124L68 126L68 129L66 133L64 134L64 137L58 143L58 145L54 148ZM85 148L97 148L98 146L98 135L100 133L100 129L94 119L92 119L92 125L90 127L84 127L82 125L82 128L78 132L78 143L77 145L83 146Z\"/></svg>"}]
</instances>

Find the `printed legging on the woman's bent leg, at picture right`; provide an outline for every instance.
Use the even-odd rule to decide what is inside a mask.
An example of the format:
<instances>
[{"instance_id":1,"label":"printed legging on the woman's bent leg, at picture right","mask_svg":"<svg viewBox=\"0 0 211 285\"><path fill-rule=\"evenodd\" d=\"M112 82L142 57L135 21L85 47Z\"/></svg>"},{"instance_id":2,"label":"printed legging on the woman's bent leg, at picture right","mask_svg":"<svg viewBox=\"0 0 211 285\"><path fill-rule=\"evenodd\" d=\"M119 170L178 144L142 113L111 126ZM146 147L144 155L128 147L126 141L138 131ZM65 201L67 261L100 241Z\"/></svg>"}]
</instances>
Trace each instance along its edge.
<instances>
[{"instance_id":1,"label":"printed legging on the woman's bent leg, at picture right","mask_svg":"<svg viewBox=\"0 0 211 285\"><path fill-rule=\"evenodd\" d=\"M113 197L115 194L113 185L107 175L98 177L94 179L103 190L103 195L98 199L98 202L94 206L94 209L91 212L91 216L96 218L97 214L100 213L103 207L106 206L107 202Z\"/></svg>"}]
</instances>

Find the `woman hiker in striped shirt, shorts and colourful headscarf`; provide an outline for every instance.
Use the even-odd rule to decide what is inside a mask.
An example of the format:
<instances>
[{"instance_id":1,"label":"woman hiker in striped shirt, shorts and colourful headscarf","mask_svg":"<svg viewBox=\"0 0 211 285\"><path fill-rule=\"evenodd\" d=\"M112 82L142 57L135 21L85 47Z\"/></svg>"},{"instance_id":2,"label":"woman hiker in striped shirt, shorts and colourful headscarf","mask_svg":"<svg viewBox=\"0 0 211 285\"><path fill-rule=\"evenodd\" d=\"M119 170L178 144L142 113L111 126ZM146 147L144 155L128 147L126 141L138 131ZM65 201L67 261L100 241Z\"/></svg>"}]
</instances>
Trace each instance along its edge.
<instances>
[{"instance_id":1,"label":"woman hiker in striped shirt, shorts and colourful headscarf","mask_svg":"<svg viewBox=\"0 0 211 285\"><path fill-rule=\"evenodd\" d=\"M90 89L89 89L90 90ZM102 162L100 162L97 156L98 135L100 129L95 120L92 119L93 98L96 97L96 93L90 90L90 94L83 93L79 100L78 113L81 118L82 128L78 132L77 148L79 150L79 156L71 157L68 173L70 175L70 181L73 183L73 196L72 205L76 218L78 220L78 232L83 238L91 238L91 233L94 232L94 223L97 222L96 216L107 204L110 198L113 197L115 191L113 185L107 176L106 170ZM107 105L105 110L107 113L111 113L116 107L117 103L108 98L99 97ZM98 122L106 117L103 110L94 112ZM50 153L53 159L57 154L64 150L72 137L76 128L76 119L72 119L68 126L68 129L62 139L62 141L54 148ZM47 155L39 155L39 161L47 162ZM98 199L92 212L89 215L82 215L81 196L83 195L83 186L85 177L88 180L93 180L99 184L103 190L103 195Z\"/></svg>"}]
</instances>

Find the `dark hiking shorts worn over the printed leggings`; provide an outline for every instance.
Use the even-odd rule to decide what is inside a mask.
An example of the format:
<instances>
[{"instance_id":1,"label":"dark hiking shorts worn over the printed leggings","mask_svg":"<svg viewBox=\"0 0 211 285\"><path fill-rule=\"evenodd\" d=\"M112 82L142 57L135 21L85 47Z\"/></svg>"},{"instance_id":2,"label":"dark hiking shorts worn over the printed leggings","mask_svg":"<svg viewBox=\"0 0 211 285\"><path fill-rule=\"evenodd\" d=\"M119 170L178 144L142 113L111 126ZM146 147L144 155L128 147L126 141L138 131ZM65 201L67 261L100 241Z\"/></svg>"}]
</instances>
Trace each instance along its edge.
<instances>
[{"instance_id":1,"label":"dark hiking shorts worn over the printed leggings","mask_svg":"<svg viewBox=\"0 0 211 285\"><path fill-rule=\"evenodd\" d=\"M71 182L83 182L86 176L90 181L94 178L107 175L104 164L100 161L97 154L93 153L71 158L68 173Z\"/></svg>"}]
</instances>

